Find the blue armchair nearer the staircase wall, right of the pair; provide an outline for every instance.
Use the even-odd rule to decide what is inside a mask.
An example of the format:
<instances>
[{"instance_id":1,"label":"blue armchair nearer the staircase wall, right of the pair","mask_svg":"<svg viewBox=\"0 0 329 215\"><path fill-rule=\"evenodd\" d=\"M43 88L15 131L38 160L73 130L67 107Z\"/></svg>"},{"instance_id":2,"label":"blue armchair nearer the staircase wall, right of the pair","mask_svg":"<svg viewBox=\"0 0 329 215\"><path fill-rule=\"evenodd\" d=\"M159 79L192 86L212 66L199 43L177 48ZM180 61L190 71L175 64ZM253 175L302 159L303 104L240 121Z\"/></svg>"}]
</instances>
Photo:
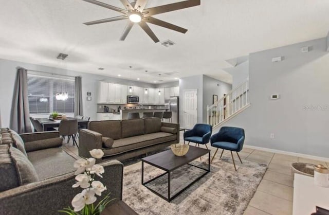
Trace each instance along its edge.
<instances>
[{"instance_id":1,"label":"blue armchair nearer the staircase wall, right of the pair","mask_svg":"<svg viewBox=\"0 0 329 215\"><path fill-rule=\"evenodd\" d=\"M245 141L245 130L236 127L222 127L218 133L212 135L210 138L211 146L217 148L214 156L211 159L211 162L214 159L218 149L223 149L221 158L225 149L230 150L234 169L236 171L232 151L236 152L242 164L240 155L237 152L240 152L242 150L244 141Z\"/></svg>"}]
</instances>

